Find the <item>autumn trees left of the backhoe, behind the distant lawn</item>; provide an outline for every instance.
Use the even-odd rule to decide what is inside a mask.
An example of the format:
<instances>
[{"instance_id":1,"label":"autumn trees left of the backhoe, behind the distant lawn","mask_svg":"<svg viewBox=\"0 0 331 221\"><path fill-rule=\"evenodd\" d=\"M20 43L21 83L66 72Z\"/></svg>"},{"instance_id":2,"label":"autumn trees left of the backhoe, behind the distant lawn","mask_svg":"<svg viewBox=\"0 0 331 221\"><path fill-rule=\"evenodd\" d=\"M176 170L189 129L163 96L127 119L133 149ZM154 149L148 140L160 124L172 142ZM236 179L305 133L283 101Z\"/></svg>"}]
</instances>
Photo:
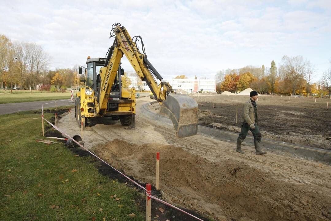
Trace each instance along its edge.
<instances>
[{"instance_id":1,"label":"autumn trees left of the backhoe, behind the distant lawn","mask_svg":"<svg viewBox=\"0 0 331 221\"><path fill-rule=\"evenodd\" d=\"M77 65L51 71L51 60L41 45L0 34L0 88L56 91L80 84Z\"/></svg>"}]
</instances>

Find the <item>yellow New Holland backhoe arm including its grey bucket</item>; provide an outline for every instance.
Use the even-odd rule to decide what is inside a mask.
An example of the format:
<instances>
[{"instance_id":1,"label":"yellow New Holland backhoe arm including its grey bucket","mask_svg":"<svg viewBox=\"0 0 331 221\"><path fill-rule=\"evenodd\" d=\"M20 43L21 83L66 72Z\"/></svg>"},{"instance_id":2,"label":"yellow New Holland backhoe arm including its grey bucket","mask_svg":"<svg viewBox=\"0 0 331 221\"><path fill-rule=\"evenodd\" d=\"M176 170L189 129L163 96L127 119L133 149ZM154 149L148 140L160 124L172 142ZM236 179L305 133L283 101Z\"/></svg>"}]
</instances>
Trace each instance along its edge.
<instances>
[{"instance_id":1,"label":"yellow New Holland backhoe arm including its grey bucket","mask_svg":"<svg viewBox=\"0 0 331 221\"><path fill-rule=\"evenodd\" d=\"M142 81L145 81L154 96L161 104L161 113L168 116L176 131L177 137L188 137L198 131L198 104L183 94L176 94L169 83L165 82L153 65L147 60L147 55L140 53L129 33L119 24L113 25L115 40L110 48L105 67L100 69L96 111L99 113L107 108L110 90L114 83L120 60L123 55L128 59L133 69ZM156 80L158 79L160 83Z\"/></svg>"}]
</instances>

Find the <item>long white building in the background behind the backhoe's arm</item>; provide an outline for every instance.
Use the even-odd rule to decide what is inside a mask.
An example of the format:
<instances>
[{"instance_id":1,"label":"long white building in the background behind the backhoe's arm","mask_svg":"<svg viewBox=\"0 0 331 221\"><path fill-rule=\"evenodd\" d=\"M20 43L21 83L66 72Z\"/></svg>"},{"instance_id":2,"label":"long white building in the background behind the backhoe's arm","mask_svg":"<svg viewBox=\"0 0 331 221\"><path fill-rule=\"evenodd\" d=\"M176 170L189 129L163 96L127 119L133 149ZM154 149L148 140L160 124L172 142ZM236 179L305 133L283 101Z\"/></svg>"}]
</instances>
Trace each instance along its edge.
<instances>
[{"instance_id":1,"label":"long white building in the background behind the backhoe's arm","mask_svg":"<svg viewBox=\"0 0 331 221\"><path fill-rule=\"evenodd\" d=\"M137 76L129 76L131 85L129 87L135 87L136 90L150 90L146 82L141 82ZM187 92L198 92L198 91L216 91L216 80L211 79L164 79L169 82L174 90L182 89ZM139 83L140 82L140 83Z\"/></svg>"}]
</instances>

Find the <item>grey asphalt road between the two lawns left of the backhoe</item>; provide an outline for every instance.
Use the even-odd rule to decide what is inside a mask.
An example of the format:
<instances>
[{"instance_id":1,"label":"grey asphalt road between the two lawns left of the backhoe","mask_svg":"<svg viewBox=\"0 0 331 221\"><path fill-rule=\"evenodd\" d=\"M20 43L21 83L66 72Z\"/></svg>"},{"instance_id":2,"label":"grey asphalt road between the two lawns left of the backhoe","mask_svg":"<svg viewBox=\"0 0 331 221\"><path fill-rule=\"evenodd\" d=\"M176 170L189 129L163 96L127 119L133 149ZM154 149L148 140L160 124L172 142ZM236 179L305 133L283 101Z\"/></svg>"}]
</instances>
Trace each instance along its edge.
<instances>
[{"instance_id":1,"label":"grey asphalt road between the two lawns left of the backhoe","mask_svg":"<svg viewBox=\"0 0 331 221\"><path fill-rule=\"evenodd\" d=\"M27 110L41 110L41 107L43 104L44 104L44 109L55 107L55 100L0 104L0 115L11 114L11 113L27 111ZM71 102L71 100L57 100L56 101L57 107L70 106L70 105L74 105L74 102Z\"/></svg>"}]
</instances>

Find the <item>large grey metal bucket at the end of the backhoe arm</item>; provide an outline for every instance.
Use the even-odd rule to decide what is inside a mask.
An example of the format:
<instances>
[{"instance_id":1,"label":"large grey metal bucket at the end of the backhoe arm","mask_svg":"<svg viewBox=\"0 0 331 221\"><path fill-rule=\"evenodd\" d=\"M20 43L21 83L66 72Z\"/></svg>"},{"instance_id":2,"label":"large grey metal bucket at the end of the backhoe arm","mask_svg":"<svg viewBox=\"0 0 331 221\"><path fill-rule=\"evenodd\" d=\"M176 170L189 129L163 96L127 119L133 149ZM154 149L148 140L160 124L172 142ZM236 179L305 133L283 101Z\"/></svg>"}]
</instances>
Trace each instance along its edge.
<instances>
[{"instance_id":1,"label":"large grey metal bucket at the end of the backhoe arm","mask_svg":"<svg viewBox=\"0 0 331 221\"><path fill-rule=\"evenodd\" d=\"M170 93L162 102L160 112L170 118L177 137L185 138L198 133L198 104L193 98Z\"/></svg>"}]
</instances>

